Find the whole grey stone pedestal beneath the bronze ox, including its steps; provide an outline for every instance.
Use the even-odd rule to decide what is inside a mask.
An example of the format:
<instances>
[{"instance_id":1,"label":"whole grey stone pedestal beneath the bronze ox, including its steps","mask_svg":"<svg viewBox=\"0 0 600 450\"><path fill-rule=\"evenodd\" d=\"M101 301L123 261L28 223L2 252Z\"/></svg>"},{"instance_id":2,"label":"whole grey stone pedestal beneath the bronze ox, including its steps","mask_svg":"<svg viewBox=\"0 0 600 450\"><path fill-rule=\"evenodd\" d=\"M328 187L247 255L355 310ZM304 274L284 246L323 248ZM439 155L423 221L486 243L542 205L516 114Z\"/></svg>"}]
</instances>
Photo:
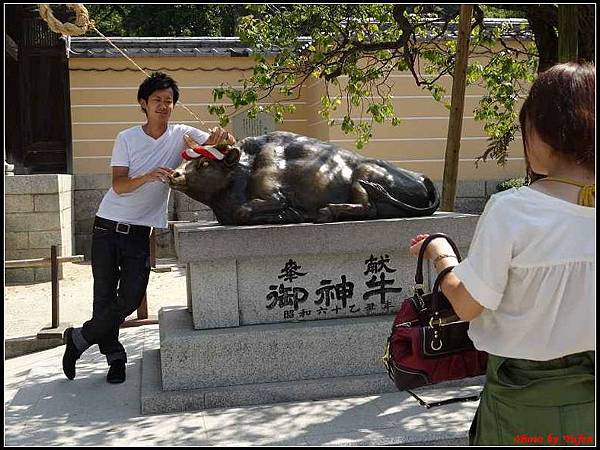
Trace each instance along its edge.
<instances>
[{"instance_id":1,"label":"whole grey stone pedestal beneath the bronze ox, including its steps","mask_svg":"<svg viewBox=\"0 0 600 450\"><path fill-rule=\"evenodd\" d=\"M413 292L410 239L444 232L466 255L477 220L436 213L331 224L175 225L179 263L188 266L188 308L159 314L160 356L147 353L143 370L148 380L160 378L160 389L143 383L142 410L393 391L381 357L394 314Z\"/></svg>"}]
</instances>

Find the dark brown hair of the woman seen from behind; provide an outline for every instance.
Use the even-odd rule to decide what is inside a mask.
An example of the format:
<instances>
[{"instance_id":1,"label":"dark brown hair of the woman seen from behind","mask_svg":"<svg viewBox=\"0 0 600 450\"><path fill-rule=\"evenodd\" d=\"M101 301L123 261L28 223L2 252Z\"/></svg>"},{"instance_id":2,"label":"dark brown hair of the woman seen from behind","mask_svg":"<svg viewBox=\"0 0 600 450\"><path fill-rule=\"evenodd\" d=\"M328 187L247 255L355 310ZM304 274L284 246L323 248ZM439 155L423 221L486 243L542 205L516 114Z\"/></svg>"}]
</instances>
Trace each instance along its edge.
<instances>
[{"instance_id":1,"label":"dark brown hair of the woman seen from behind","mask_svg":"<svg viewBox=\"0 0 600 450\"><path fill-rule=\"evenodd\" d=\"M591 64L552 66L535 80L519 114L527 174L533 174L527 158L527 135L533 128L562 157L595 172L595 85Z\"/></svg>"}]
</instances>

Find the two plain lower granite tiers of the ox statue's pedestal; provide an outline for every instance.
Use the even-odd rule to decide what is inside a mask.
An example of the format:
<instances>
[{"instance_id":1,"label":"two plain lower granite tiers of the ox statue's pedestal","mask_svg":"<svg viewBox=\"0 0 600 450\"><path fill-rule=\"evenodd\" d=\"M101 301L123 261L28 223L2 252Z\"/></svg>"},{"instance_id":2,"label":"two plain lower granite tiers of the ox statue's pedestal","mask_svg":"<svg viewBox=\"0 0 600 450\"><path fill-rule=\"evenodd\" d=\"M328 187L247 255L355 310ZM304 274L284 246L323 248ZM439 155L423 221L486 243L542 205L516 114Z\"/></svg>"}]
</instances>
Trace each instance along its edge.
<instances>
[{"instance_id":1,"label":"two plain lower granite tiers of the ox statue's pedestal","mask_svg":"<svg viewBox=\"0 0 600 450\"><path fill-rule=\"evenodd\" d=\"M381 361L393 316L218 330L195 330L186 308L163 308L159 318L160 350L143 354L142 414L397 391Z\"/></svg>"}]
</instances>

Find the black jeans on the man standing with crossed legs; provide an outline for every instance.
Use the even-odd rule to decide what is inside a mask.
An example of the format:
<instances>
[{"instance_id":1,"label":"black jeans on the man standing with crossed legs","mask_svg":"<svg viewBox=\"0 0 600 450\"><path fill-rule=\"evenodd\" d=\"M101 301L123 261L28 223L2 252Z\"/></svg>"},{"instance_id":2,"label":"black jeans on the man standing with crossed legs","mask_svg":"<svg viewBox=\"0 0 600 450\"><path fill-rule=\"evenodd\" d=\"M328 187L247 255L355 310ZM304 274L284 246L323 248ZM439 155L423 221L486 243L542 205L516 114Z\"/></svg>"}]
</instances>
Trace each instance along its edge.
<instances>
[{"instance_id":1,"label":"black jeans on the man standing with crossed legs","mask_svg":"<svg viewBox=\"0 0 600 450\"><path fill-rule=\"evenodd\" d=\"M92 318L83 324L85 344L98 344L111 364L127 360L119 342L119 327L141 304L150 276L150 227L129 234L111 229L96 217L92 237L94 307ZM80 350L84 350L81 349Z\"/></svg>"}]
</instances>

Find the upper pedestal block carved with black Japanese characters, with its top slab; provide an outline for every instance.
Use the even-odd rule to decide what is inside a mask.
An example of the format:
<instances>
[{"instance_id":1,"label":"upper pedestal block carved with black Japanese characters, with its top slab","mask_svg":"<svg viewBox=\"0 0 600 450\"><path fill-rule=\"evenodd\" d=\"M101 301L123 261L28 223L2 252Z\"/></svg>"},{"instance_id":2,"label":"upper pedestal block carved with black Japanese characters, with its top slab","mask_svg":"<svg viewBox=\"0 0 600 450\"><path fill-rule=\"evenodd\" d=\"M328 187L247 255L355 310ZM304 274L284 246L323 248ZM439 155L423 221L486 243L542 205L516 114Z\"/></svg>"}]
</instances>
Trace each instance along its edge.
<instances>
[{"instance_id":1,"label":"upper pedestal block carved with black Japanese characters, with its top slab","mask_svg":"<svg viewBox=\"0 0 600 450\"><path fill-rule=\"evenodd\" d=\"M360 318L393 314L412 294L411 238L444 232L466 255L478 219L436 212L324 224L180 223L175 248L188 266L198 330Z\"/></svg>"}]
</instances>

